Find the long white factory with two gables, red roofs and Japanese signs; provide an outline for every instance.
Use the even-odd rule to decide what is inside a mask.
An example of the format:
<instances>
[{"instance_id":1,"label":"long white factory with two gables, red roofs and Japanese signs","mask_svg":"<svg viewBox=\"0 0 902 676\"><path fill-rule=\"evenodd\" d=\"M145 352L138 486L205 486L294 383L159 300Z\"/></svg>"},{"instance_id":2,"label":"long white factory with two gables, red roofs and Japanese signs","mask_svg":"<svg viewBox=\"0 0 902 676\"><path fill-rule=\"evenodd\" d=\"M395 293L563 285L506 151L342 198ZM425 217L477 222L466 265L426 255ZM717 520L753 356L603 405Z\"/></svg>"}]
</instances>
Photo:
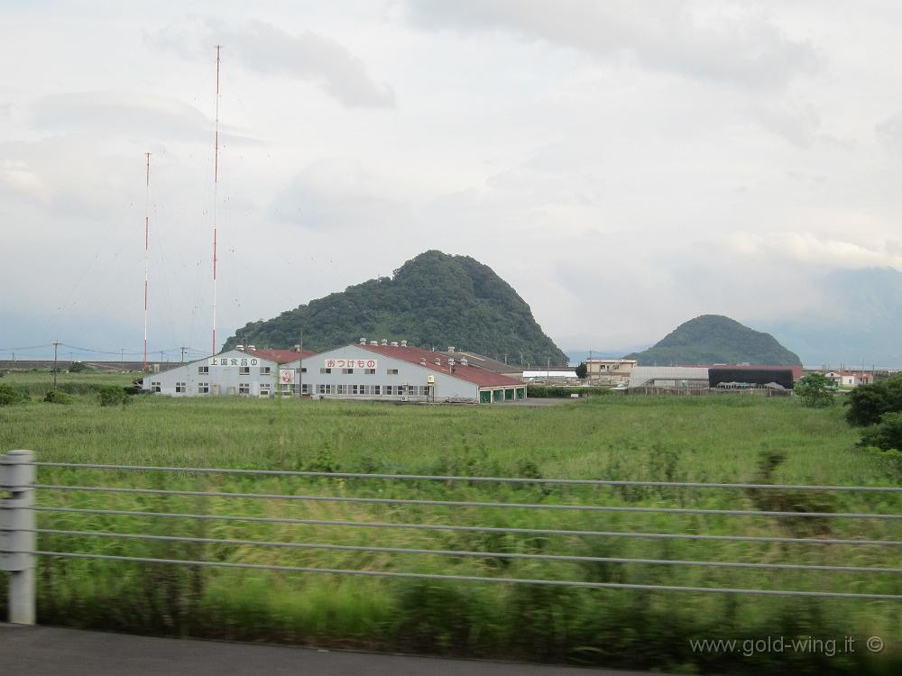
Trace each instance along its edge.
<instances>
[{"instance_id":1,"label":"long white factory with two gables, red roofs and Japanese signs","mask_svg":"<svg viewBox=\"0 0 902 676\"><path fill-rule=\"evenodd\" d=\"M321 354L231 350L153 374L143 388L176 397L294 395L400 402L501 403L526 398L526 385L445 354L406 342L372 341ZM294 361L288 358L294 357Z\"/></svg>"}]
</instances>

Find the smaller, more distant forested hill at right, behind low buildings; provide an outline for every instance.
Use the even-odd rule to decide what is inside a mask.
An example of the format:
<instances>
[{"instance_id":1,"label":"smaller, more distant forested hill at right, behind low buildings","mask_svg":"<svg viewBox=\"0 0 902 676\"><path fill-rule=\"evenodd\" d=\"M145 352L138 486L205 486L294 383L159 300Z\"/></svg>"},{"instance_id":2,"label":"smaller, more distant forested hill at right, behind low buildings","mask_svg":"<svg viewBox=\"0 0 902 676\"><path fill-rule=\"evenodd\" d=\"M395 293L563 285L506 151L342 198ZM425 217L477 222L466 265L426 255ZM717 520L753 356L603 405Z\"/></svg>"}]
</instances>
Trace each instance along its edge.
<instances>
[{"instance_id":1,"label":"smaller, more distant forested hill at right, behind low buildings","mask_svg":"<svg viewBox=\"0 0 902 676\"><path fill-rule=\"evenodd\" d=\"M702 315L680 324L659 343L626 359L640 366L671 364L801 365L770 333L761 333L723 315Z\"/></svg>"}]
</instances>

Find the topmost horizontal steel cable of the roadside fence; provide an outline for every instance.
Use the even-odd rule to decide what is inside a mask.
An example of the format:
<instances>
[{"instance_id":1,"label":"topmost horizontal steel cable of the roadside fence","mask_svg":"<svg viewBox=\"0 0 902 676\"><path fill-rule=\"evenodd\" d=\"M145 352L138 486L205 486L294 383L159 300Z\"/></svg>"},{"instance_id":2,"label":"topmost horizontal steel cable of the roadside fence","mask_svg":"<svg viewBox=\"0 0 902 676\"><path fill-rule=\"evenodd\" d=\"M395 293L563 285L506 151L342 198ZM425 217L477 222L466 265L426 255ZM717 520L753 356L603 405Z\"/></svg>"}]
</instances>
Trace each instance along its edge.
<instances>
[{"instance_id":1,"label":"topmost horizontal steel cable of the roadside fence","mask_svg":"<svg viewBox=\"0 0 902 676\"><path fill-rule=\"evenodd\" d=\"M522 477L457 477L435 474L373 474L365 472L329 472L295 470L224 470L199 467L159 467L153 465L105 465L74 462L32 462L35 467L62 467L82 470L172 471L191 474L257 474L261 476L310 477L323 479L396 479L423 481L470 481L473 483L551 484L562 486L644 486L674 489L760 489L760 490L861 490L902 493L898 486L799 486L762 483L702 483L697 481L630 481L603 479L527 479Z\"/></svg>"}]
</instances>

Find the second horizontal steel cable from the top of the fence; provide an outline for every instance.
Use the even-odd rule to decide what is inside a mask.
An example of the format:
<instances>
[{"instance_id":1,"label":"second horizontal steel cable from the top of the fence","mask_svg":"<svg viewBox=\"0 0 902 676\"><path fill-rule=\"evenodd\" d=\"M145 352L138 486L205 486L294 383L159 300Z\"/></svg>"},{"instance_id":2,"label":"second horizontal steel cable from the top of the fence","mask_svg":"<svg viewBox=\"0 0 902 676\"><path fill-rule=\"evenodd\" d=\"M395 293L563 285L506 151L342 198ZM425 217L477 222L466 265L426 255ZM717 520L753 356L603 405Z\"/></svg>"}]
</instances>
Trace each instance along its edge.
<instances>
[{"instance_id":1,"label":"second horizontal steel cable from the top of the fence","mask_svg":"<svg viewBox=\"0 0 902 676\"><path fill-rule=\"evenodd\" d=\"M137 495L176 495L195 498L247 498L263 500L302 500L308 502L353 502L375 505L419 505L427 507L501 507L508 509L557 509L581 512L633 512L645 514L704 514L708 516L799 516L806 518L902 519L902 514L856 512L779 512L755 509L700 509L682 507L612 507L603 505L540 505L523 502L474 502L470 500L424 500L409 498L348 498L344 496L285 495L281 493L231 493L205 490L124 489L103 486L63 486L33 484L41 490L74 490L94 493L129 493Z\"/></svg>"}]
</instances>

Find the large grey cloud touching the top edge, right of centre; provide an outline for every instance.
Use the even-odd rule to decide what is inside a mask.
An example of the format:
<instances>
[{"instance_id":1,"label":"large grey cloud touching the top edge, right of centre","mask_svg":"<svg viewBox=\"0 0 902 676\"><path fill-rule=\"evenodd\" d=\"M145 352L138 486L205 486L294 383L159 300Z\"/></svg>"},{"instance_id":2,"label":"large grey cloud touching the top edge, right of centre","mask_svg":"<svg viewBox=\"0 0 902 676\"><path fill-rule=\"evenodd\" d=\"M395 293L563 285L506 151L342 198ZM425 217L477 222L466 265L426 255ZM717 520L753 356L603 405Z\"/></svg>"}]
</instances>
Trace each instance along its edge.
<instances>
[{"instance_id":1,"label":"large grey cloud touching the top edge, right of centre","mask_svg":"<svg viewBox=\"0 0 902 676\"><path fill-rule=\"evenodd\" d=\"M633 59L690 78L783 86L815 69L811 45L744 4L650 0L409 0L416 25L502 30L605 59Z\"/></svg>"}]
</instances>

